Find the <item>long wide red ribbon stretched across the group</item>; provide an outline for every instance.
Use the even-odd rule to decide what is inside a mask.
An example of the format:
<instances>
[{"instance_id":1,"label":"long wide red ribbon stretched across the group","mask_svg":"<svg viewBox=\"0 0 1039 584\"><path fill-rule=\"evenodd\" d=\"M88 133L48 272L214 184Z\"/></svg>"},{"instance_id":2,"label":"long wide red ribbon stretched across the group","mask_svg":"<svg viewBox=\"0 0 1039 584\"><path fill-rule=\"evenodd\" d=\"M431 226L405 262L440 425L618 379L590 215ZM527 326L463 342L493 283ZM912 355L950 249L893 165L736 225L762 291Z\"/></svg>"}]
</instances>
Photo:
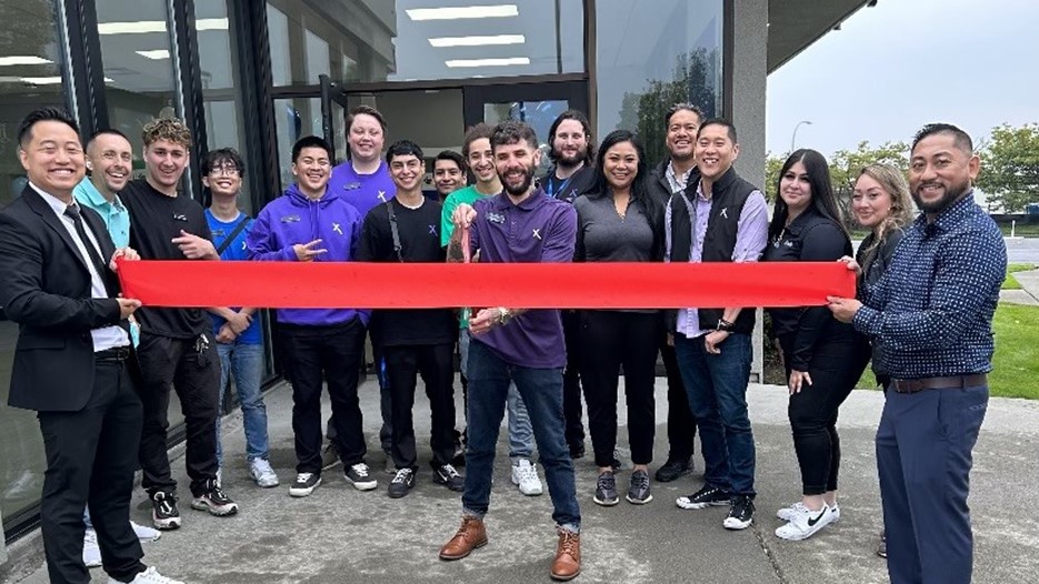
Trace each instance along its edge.
<instances>
[{"instance_id":1,"label":"long wide red ribbon stretched across the group","mask_svg":"<svg viewBox=\"0 0 1039 584\"><path fill-rule=\"evenodd\" d=\"M840 262L362 263L120 261L146 306L673 309L823 305Z\"/></svg>"}]
</instances>

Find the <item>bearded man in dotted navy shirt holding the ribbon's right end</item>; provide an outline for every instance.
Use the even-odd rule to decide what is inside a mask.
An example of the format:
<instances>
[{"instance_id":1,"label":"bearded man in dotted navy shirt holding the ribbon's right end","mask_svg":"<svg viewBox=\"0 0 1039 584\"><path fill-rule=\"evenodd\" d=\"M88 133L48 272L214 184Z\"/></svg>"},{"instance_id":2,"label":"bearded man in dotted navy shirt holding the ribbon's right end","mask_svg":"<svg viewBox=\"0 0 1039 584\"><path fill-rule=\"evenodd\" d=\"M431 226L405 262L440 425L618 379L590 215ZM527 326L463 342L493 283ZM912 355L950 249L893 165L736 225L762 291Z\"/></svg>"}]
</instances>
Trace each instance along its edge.
<instances>
[{"instance_id":1,"label":"bearded man in dotted navy shirt holding the ribbon's right end","mask_svg":"<svg viewBox=\"0 0 1039 584\"><path fill-rule=\"evenodd\" d=\"M861 302L829 302L838 320L882 343L891 375L877 430L891 582L966 584L971 454L988 405L1007 248L975 202L981 163L966 132L925 125L910 152L909 188L922 213L885 276L860 289Z\"/></svg>"}]
</instances>

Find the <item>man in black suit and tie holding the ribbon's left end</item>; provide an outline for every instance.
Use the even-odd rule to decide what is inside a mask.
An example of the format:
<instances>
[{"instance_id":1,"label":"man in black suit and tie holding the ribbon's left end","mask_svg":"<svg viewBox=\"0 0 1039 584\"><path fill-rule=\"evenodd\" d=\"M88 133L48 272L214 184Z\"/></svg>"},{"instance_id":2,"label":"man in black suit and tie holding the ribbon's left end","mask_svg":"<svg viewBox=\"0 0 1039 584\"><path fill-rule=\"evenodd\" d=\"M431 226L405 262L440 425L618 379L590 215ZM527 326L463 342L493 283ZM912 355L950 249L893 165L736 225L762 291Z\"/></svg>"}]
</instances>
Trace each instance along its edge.
<instances>
[{"instance_id":1,"label":"man in black suit and tie holding the ribbon's left end","mask_svg":"<svg viewBox=\"0 0 1039 584\"><path fill-rule=\"evenodd\" d=\"M47 473L40 518L52 583L89 583L83 509L89 505L112 582L171 583L141 563L130 526L130 495L141 432L141 401L127 319L137 300L117 298L118 256L101 217L72 190L83 178L76 122L44 108L18 129L29 177L0 211L0 304L19 324L9 404L36 410Z\"/></svg>"}]
</instances>

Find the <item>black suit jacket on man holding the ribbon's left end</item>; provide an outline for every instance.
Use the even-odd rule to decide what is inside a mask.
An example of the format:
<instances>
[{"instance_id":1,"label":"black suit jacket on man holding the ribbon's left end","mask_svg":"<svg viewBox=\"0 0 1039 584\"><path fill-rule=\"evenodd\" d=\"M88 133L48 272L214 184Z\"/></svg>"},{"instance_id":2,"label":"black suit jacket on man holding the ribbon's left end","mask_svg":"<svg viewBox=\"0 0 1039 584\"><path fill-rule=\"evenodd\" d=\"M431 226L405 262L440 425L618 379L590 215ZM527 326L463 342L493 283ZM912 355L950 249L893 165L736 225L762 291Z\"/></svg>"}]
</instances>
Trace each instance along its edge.
<instances>
[{"instance_id":1,"label":"black suit jacket on man holding the ribbon's left end","mask_svg":"<svg viewBox=\"0 0 1039 584\"><path fill-rule=\"evenodd\" d=\"M108 261L116 245L101 217L80 207ZM93 299L83 258L54 210L31 187L0 211L0 305L19 324L8 403L81 410L93 390L91 329L120 324L114 299ZM89 242L87 242L89 245ZM102 278L106 275L102 274Z\"/></svg>"}]
</instances>

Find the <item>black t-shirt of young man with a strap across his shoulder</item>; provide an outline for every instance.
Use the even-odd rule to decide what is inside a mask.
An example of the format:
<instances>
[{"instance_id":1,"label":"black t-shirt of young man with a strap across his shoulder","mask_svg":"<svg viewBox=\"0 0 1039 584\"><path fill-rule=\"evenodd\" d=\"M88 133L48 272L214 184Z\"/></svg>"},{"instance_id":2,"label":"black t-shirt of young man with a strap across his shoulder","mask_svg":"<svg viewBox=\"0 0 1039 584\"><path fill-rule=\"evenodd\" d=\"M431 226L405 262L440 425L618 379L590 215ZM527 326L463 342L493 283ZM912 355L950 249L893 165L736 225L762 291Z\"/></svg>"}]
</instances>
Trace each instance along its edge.
<instances>
[{"instance_id":1,"label":"black t-shirt of young man with a strap across his shoulder","mask_svg":"<svg viewBox=\"0 0 1039 584\"><path fill-rule=\"evenodd\" d=\"M429 199L422 207L408 209L397 199L376 205L364 218L357 260L361 262L397 262L388 207L393 205L397 231L400 234L400 256L404 262L442 262L440 246L441 205ZM421 294L416 289L416 294ZM371 318L376 339L384 345L453 343L456 320L450 309L377 310Z\"/></svg>"}]
</instances>

